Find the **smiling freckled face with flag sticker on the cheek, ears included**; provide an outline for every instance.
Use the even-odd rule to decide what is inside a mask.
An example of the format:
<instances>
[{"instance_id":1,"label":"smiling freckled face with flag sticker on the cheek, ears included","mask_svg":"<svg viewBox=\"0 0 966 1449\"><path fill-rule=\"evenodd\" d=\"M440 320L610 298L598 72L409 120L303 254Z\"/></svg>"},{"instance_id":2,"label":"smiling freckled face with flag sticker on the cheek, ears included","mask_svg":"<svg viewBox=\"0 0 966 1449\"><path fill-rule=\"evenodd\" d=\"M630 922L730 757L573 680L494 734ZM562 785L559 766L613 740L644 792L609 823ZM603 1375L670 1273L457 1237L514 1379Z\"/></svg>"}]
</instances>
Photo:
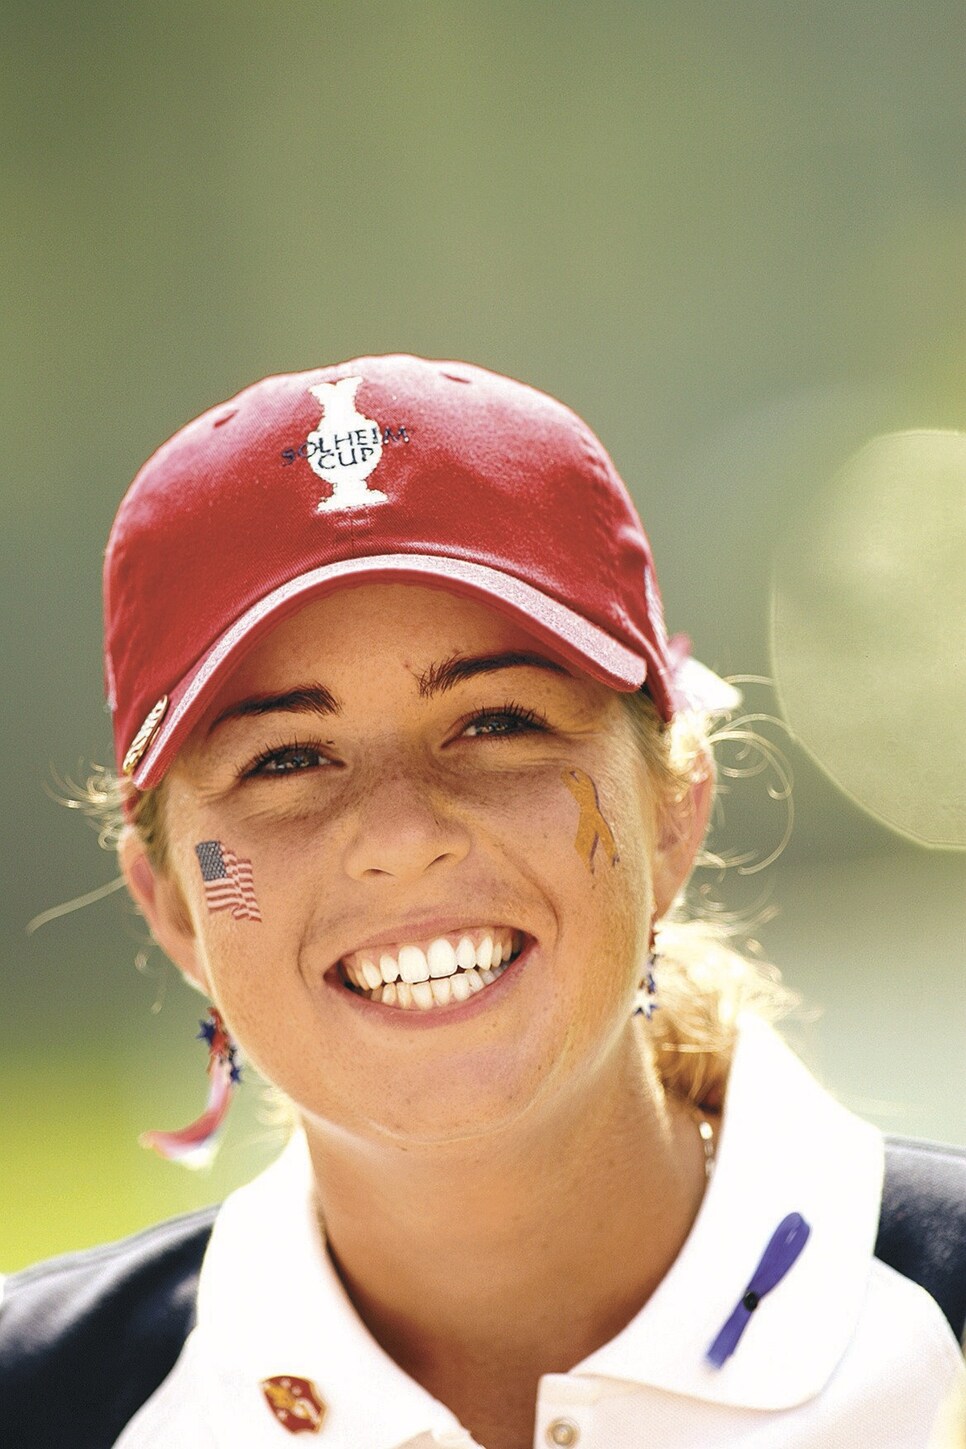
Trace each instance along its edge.
<instances>
[{"instance_id":1,"label":"smiling freckled face with flag sticker on the cheek, ears included","mask_svg":"<svg viewBox=\"0 0 966 1449\"><path fill-rule=\"evenodd\" d=\"M310 1127L424 1142L616 1071L698 843L658 827L613 690L411 584L256 645L168 775L165 829L159 878L129 835L129 884L245 1055ZM255 909L224 909L219 852Z\"/></svg>"}]
</instances>

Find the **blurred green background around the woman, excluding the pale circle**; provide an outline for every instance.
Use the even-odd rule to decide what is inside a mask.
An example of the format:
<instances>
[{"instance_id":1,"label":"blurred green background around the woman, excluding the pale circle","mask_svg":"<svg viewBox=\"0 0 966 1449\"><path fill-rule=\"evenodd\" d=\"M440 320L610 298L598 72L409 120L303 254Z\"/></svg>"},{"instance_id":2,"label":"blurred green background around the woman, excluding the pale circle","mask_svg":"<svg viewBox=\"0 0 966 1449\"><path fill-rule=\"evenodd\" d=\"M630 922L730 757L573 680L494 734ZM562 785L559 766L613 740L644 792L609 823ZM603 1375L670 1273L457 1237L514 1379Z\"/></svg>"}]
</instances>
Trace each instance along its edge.
<instances>
[{"instance_id":1,"label":"blurred green background around the woman, excluding the pale circle","mask_svg":"<svg viewBox=\"0 0 966 1449\"><path fill-rule=\"evenodd\" d=\"M200 1110L200 998L119 895L25 933L112 878L48 791L109 756L98 569L142 459L271 371L400 349L516 374L607 442L672 630L772 675L794 520L869 438L966 429L966 17L6 0L0 26L9 1271L216 1200L278 1142L252 1085L209 1175L142 1152L140 1130ZM904 732L920 709L895 681ZM772 733L791 842L710 884L779 907L757 935L821 1009L791 1036L841 1100L966 1142L966 858L898 836ZM768 778L733 782L720 851L779 843Z\"/></svg>"}]
</instances>

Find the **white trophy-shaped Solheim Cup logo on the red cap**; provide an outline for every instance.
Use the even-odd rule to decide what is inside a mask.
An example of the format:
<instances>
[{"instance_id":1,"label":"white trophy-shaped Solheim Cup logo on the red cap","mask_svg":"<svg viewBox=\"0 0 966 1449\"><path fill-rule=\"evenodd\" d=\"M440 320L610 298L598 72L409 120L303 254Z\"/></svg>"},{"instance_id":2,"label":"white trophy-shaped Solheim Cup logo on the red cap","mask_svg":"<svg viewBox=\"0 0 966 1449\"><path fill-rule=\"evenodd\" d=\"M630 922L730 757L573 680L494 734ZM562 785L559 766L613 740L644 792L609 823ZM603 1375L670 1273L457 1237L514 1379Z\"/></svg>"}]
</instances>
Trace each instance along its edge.
<instances>
[{"instance_id":1,"label":"white trophy-shaped Solheim Cup logo on the red cap","mask_svg":"<svg viewBox=\"0 0 966 1449\"><path fill-rule=\"evenodd\" d=\"M306 456L311 471L332 484L332 497L319 503L320 513L387 501L385 493L366 485L366 478L379 465L384 439L379 425L364 417L355 406L361 381L361 377L343 377L308 388L322 403L322 420L306 439Z\"/></svg>"}]
</instances>

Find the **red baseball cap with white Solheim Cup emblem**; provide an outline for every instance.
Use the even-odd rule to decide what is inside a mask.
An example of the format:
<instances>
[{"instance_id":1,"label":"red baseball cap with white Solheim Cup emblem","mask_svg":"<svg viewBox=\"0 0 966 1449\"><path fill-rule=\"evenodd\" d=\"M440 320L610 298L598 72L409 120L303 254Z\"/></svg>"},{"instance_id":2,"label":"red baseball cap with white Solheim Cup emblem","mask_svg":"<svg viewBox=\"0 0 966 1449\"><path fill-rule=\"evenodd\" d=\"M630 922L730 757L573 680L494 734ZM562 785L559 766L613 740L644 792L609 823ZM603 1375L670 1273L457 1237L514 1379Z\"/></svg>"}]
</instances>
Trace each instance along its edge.
<instances>
[{"instance_id":1,"label":"red baseball cap with white Solheim Cup emblem","mask_svg":"<svg viewBox=\"0 0 966 1449\"><path fill-rule=\"evenodd\" d=\"M156 785L243 655L308 600L410 581L468 594L660 716L737 691L668 640L650 545L562 403L466 362L355 358L268 377L164 443L104 562L119 768Z\"/></svg>"}]
</instances>

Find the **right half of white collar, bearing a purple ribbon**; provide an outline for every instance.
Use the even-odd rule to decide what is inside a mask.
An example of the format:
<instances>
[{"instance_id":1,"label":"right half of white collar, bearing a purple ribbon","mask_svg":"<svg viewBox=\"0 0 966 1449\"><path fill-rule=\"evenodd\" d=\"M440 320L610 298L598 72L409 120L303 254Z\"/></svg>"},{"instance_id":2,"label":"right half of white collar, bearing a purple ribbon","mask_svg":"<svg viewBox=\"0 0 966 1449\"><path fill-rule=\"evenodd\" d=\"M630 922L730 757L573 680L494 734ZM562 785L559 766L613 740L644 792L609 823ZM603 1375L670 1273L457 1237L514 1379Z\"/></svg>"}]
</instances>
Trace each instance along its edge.
<instances>
[{"instance_id":1,"label":"right half of white collar, bearing a purple ribbon","mask_svg":"<svg viewBox=\"0 0 966 1449\"><path fill-rule=\"evenodd\" d=\"M823 1091L775 1032L743 1020L694 1227L642 1311L571 1372L746 1408L818 1394L862 1311L882 1171L881 1133ZM811 1227L808 1242L715 1369L704 1355L789 1213Z\"/></svg>"}]
</instances>

